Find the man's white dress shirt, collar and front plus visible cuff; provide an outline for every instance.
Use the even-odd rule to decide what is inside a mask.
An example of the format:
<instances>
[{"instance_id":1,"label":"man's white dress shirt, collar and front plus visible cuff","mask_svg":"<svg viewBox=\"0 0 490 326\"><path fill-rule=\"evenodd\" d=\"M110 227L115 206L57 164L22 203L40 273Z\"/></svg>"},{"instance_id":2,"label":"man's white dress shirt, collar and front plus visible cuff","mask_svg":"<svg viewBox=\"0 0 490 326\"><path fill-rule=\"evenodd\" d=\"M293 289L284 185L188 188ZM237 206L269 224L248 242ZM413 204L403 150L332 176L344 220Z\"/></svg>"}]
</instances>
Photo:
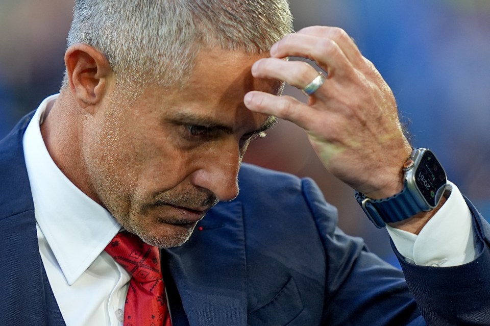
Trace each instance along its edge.
<instances>
[{"instance_id":1,"label":"man's white dress shirt, collar and front plus visible cuff","mask_svg":"<svg viewBox=\"0 0 490 326\"><path fill-rule=\"evenodd\" d=\"M104 248L121 227L47 152L39 126L56 98L40 104L23 138L39 252L67 326L120 326L130 275ZM408 261L451 266L475 258L470 211L456 186L450 187L447 202L418 236L388 228Z\"/></svg>"}]
</instances>

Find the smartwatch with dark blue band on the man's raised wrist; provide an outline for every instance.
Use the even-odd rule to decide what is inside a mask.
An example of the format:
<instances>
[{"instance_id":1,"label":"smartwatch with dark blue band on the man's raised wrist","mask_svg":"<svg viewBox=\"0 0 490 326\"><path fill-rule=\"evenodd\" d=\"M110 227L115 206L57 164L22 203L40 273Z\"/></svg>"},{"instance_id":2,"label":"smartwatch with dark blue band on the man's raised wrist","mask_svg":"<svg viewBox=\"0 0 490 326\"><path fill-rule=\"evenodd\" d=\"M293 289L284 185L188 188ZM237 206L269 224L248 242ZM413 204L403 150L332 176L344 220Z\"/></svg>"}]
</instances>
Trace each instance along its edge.
<instances>
[{"instance_id":1,"label":"smartwatch with dark blue band on the man's raised wrist","mask_svg":"<svg viewBox=\"0 0 490 326\"><path fill-rule=\"evenodd\" d=\"M403 170L403 190L396 195L371 199L355 192L362 210L379 229L384 228L386 223L403 221L436 208L446 190L446 172L430 149L413 149Z\"/></svg>"}]
</instances>

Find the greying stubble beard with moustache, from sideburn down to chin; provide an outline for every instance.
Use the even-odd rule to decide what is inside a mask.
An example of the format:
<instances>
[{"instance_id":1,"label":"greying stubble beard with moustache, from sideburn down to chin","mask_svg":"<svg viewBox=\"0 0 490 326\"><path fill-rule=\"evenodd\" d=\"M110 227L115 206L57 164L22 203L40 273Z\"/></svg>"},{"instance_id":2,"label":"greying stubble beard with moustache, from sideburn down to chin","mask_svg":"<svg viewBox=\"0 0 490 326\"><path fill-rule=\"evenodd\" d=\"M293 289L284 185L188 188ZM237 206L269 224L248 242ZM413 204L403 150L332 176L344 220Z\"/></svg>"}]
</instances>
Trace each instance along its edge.
<instances>
[{"instance_id":1,"label":"greying stubble beard with moustache, from sideburn down to chin","mask_svg":"<svg viewBox=\"0 0 490 326\"><path fill-rule=\"evenodd\" d=\"M124 134L121 123L124 120L124 108L115 103L124 101L113 102L113 116L97 130L97 135L94 135L95 143L85 148L85 167L89 173L92 192L124 229L144 242L160 248L180 246L192 235L195 223L177 228L176 232L176 228L168 225L168 232L164 236L157 236L152 231L158 225L159 218L151 215L149 208L174 205L210 209L218 201L209 192L197 188L179 191L169 189L153 195L138 195L136 182L129 182L138 180L137 175L131 175L131 171L121 171L117 164L125 162L123 166L131 166L128 158L131 158L132 153L128 153L124 145L125 139L120 139L120 135ZM168 216L163 220L169 224L178 224L181 221L178 217Z\"/></svg>"}]
</instances>

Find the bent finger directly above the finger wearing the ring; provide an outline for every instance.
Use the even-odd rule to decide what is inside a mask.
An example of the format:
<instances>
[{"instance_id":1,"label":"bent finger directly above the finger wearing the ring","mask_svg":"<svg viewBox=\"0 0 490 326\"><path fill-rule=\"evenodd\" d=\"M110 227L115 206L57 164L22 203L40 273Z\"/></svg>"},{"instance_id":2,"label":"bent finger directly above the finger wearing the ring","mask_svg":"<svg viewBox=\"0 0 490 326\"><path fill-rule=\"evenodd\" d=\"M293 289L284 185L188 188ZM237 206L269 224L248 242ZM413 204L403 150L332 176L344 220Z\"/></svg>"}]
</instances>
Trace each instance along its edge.
<instances>
[{"instance_id":1,"label":"bent finger directly above the finger wearing the ring","mask_svg":"<svg viewBox=\"0 0 490 326\"><path fill-rule=\"evenodd\" d=\"M348 73L353 66L338 44L329 38L305 34L289 34L271 49L274 58L290 56L308 58L329 74L334 71Z\"/></svg>"}]
</instances>

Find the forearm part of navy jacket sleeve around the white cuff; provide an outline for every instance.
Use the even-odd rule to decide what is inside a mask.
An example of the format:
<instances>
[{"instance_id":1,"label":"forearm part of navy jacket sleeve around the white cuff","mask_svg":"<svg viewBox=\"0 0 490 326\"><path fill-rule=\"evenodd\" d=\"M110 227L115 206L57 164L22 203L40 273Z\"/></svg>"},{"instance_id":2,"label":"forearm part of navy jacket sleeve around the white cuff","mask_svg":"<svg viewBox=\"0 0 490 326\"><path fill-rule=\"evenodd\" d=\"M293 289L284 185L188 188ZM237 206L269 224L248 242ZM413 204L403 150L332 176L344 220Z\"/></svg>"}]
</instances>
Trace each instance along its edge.
<instances>
[{"instance_id":1,"label":"forearm part of navy jacket sleeve around the white cuff","mask_svg":"<svg viewBox=\"0 0 490 326\"><path fill-rule=\"evenodd\" d=\"M474 261L454 267L416 266L407 263L391 244L429 325L490 324L490 226L469 200L467 204L479 253Z\"/></svg>"}]
</instances>

